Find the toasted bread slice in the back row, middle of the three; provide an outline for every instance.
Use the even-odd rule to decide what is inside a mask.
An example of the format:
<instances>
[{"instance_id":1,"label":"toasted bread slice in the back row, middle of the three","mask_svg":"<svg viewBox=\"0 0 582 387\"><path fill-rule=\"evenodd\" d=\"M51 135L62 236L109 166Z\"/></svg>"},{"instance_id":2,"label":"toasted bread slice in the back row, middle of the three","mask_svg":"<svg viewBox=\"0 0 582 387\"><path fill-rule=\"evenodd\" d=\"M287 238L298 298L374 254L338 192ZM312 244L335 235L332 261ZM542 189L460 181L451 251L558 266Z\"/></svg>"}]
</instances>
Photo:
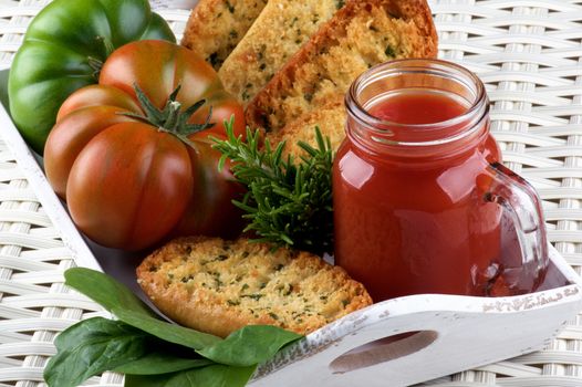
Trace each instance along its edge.
<instances>
[{"instance_id":1,"label":"toasted bread slice in the back row, middle of the three","mask_svg":"<svg viewBox=\"0 0 582 387\"><path fill-rule=\"evenodd\" d=\"M343 6L339 0L271 0L232 50L218 75L248 103L299 48Z\"/></svg>"}]
</instances>

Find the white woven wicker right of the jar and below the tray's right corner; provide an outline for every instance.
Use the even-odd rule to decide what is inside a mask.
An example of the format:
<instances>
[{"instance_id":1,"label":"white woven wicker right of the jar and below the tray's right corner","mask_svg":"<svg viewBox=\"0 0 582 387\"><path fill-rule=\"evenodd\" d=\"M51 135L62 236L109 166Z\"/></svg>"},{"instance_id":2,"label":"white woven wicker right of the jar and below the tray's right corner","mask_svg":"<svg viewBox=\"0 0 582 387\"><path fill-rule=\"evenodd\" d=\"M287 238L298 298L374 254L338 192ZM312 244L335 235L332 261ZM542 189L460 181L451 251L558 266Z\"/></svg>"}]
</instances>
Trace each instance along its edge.
<instances>
[{"instance_id":1,"label":"white woven wicker right of the jar and below the tray's right corner","mask_svg":"<svg viewBox=\"0 0 582 387\"><path fill-rule=\"evenodd\" d=\"M582 1L432 2L440 56L486 83L503 160L544 201L549 239L582 266ZM426 385L582 386L582 316L544 351Z\"/></svg>"}]
</instances>

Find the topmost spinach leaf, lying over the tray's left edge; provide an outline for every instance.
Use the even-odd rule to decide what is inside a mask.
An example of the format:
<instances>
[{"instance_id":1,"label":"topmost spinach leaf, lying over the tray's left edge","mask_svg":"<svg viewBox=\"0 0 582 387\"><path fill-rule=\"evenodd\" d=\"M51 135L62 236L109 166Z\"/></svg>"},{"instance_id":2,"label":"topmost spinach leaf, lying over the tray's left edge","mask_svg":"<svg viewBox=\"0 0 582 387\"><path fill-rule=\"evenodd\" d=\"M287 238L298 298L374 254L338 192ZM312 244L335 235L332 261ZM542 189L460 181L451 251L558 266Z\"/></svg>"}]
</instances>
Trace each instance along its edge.
<instances>
[{"instance_id":1,"label":"topmost spinach leaf, lying over the tray's left edge","mask_svg":"<svg viewBox=\"0 0 582 387\"><path fill-rule=\"evenodd\" d=\"M114 307L155 316L155 312L139 300L127 286L113 276L86 268L72 268L64 273L65 284L92 299L107 311Z\"/></svg>"}]
</instances>

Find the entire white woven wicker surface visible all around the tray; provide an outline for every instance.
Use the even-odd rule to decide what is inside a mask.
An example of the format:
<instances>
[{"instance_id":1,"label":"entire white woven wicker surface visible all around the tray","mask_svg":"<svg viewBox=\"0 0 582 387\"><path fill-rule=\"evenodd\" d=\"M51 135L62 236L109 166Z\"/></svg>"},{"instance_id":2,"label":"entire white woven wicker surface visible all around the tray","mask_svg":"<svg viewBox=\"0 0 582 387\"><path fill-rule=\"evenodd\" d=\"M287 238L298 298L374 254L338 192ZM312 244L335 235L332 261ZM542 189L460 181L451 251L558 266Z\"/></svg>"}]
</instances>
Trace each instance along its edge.
<instances>
[{"instance_id":1,"label":"entire white woven wicker surface visible all around the tray","mask_svg":"<svg viewBox=\"0 0 582 387\"><path fill-rule=\"evenodd\" d=\"M0 0L0 67L10 65L28 22L48 2ZM188 11L168 8L172 0L153 3L179 38ZM550 241L581 273L582 1L434 0L430 6L440 56L463 63L486 83L505 161L538 188ZM62 273L74 259L1 133L0 387L38 387L44 386L42 367L54 353L54 335L101 312L63 287ZM105 374L86 385L121 383L121 376ZM582 316L544 351L426 385L580 387Z\"/></svg>"}]
</instances>

